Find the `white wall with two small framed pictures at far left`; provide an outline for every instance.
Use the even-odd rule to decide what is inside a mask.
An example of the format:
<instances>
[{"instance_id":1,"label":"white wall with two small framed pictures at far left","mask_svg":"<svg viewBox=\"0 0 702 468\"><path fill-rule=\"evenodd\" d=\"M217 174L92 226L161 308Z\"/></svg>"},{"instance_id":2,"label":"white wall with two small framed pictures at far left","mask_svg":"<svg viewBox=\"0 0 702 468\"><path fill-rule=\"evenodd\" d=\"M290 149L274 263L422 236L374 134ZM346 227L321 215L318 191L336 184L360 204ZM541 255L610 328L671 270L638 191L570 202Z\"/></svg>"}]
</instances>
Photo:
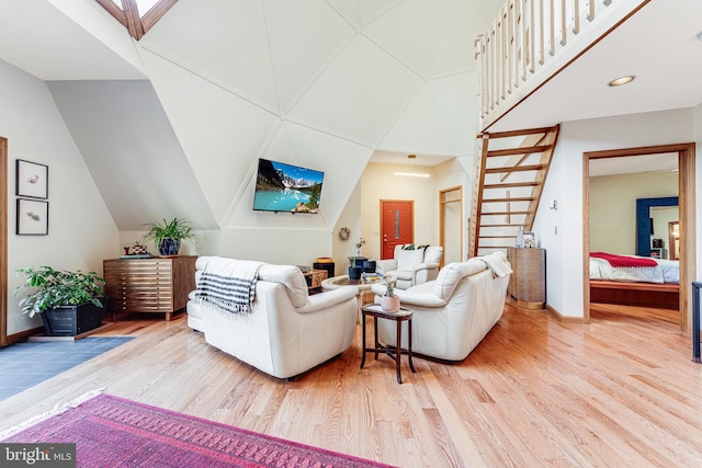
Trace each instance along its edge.
<instances>
[{"instance_id":1,"label":"white wall with two small framed pictures at far left","mask_svg":"<svg viewBox=\"0 0 702 468\"><path fill-rule=\"evenodd\" d=\"M27 265L95 271L121 252L117 229L46 84L0 61L0 135L8 138L8 334L42 324L20 315L13 297ZM15 160L48 165L48 236L16 236Z\"/></svg>"}]
</instances>

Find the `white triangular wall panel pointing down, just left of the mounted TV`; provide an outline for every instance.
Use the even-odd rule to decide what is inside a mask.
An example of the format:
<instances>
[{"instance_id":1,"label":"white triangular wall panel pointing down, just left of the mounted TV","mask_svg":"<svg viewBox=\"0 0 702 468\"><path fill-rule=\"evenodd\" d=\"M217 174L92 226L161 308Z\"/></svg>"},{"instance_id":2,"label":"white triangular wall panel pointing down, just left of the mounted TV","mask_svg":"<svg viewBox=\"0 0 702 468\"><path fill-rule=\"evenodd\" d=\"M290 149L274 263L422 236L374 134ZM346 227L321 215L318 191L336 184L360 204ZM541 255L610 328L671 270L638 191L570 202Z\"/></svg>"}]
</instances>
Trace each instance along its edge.
<instances>
[{"instance_id":1,"label":"white triangular wall panel pointing down, just left of the mounted TV","mask_svg":"<svg viewBox=\"0 0 702 468\"><path fill-rule=\"evenodd\" d=\"M279 118L182 67L145 52L144 62L218 220Z\"/></svg>"}]
</instances>

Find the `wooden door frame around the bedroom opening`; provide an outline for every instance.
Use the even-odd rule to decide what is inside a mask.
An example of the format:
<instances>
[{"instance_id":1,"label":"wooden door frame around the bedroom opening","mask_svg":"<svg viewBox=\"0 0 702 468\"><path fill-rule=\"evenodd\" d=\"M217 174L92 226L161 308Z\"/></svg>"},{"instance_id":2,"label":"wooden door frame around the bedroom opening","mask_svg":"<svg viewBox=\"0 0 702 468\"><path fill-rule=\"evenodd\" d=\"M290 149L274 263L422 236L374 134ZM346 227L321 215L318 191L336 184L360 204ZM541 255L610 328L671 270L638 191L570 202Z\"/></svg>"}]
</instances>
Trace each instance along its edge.
<instances>
[{"instance_id":1,"label":"wooden door frame around the bedroom opening","mask_svg":"<svg viewBox=\"0 0 702 468\"><path fill-rule=\"evenodd\" d=\"M680 246L680 329L690 332L692 307L690 284L694 277L695 265L695 181L694 181L695 145L660 145L641 148L584 152L584 321L590 322L590 161L603 158L636 157L675 152L678 155L678 198L679 198L679 246Z\"/></svg>"}]
</instances>

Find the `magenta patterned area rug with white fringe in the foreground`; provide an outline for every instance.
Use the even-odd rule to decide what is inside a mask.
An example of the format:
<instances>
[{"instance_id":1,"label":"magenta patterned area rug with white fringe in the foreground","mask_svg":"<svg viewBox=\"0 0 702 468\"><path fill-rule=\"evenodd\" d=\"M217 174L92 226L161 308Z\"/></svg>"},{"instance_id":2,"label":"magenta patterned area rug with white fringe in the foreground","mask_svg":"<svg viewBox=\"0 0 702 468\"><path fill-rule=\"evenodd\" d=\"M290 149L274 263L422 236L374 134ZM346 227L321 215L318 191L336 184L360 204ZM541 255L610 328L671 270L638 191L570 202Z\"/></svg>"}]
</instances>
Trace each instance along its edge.
<instances>
[{"instance_id":1,"label":"magenta patterned area rug with white fringe in the foreground","mask_svg":"<svg viewBox=\"0 0 702 468\"><path fill-rule=\"evenodd\" d=\"M78 467L388 467L100 391L0 433L8 443L75 443Z\"/></svg>"}]
</instances>

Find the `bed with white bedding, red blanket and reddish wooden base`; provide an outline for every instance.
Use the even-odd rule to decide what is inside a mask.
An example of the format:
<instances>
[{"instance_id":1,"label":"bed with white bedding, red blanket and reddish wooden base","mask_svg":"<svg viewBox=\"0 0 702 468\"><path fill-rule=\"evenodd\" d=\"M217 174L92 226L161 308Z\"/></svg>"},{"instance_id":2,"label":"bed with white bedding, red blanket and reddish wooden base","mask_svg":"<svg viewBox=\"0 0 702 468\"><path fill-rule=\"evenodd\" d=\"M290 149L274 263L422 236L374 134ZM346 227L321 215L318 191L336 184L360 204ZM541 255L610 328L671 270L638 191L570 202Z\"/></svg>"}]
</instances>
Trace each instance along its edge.
<instances>
[{"instance_id":1,"label":"bed with white bedding, red blanket and reddish wooden base","mask_svg":"<svg viewBox=\"0 0 702 468\"><path fill-rule=\"evenodd\" d=\"M677 260L593 254L590 256L591 303L679 308L680 263ZM637 263L646 265L633 266Z\"/></svg>"}]
</instances>

